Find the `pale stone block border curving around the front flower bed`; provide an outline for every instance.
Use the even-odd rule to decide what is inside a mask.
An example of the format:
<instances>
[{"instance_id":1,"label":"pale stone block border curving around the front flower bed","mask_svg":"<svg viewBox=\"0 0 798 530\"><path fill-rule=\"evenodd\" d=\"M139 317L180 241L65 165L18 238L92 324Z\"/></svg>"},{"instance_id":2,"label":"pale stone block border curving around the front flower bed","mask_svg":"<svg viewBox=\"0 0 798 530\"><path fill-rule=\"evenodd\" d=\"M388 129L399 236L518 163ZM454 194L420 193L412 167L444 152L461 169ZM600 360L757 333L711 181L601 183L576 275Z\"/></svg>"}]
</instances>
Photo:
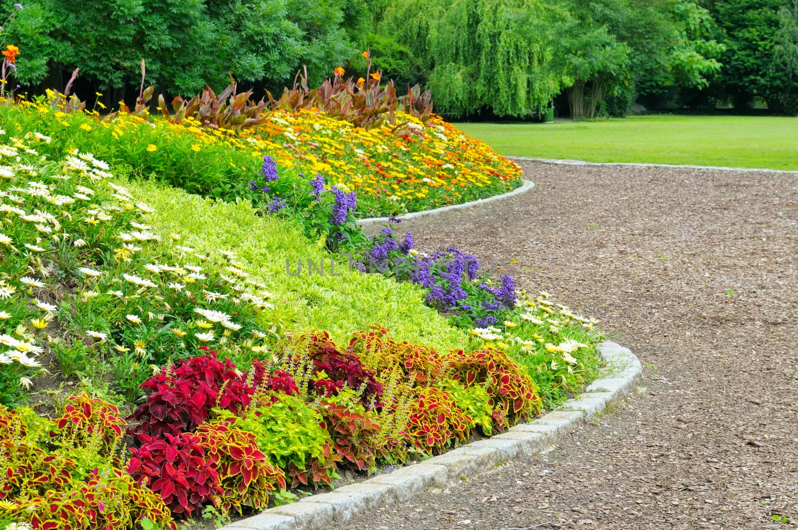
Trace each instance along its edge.
<instances>
[{"instance_id":1,"label":"pale stone block border curving around the front flower bed","mask_svg":"<svg viewBox=\"0 0 798 530\"><path fill-rule=\"evenodd\" d=\"M629 394L642 374L632 352L615 342L602 342L599 354L606 362L599 379L582 394L530 423L515 425L508 432L461 445L438 457L407 465L367 481L335 488L332 492L307 496L293 504L268 509L235 521L223 530L312 530L341 524L366 510L404 502L428 488L441 487L490 469L500 461L512 461L539 452L576 425L594 417L606 404Z\"/></svg>"}]
</instances>

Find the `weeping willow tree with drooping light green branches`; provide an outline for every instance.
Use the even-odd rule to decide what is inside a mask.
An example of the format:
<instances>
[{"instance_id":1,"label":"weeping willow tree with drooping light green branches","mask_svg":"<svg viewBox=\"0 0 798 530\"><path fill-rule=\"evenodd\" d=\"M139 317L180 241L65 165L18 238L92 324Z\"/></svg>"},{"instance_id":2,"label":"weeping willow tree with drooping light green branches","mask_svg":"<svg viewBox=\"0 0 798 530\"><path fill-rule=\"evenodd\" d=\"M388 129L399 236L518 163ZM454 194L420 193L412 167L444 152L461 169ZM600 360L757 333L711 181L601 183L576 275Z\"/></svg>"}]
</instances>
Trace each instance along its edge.
<instances>
[{"instance_id":1,"label":"weeping willow tree with drooping light green branches","mask_svg":"<svg viewBox=\"0 0 798 530\"><path fill-rule=\"evenodd\" d=\"M381 32L423 61L437 109L525 117L563 85L552 61L558 16L537 0L402 0Z\"/></svg>"}]
</instances>

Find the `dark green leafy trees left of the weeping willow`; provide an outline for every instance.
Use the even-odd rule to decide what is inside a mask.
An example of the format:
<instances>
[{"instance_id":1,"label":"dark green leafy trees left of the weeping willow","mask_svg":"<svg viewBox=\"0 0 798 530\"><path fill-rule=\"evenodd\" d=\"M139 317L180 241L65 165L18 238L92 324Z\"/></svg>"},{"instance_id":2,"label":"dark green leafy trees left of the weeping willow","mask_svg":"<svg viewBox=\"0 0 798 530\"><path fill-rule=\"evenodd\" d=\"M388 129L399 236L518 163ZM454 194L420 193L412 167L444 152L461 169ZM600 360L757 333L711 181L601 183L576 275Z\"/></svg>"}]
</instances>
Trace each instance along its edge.
<instances>
[{"instance_id":1,"label":"dark green leafy trees left of the weeping willow","mask_svg":"<svg viewBox=\"0 0 798 530\"><path fill-rule=\"evenodd\" d=\"M13 4L0 6L11 13ZM302 65L316 84L354 53L347 30L359 24L358 6L343 0L32 0L5 30L25 50L18 80L29 85L60 88L63 73L79 67L102 90L124 89L138 85L144 59L147 83L173 93L218 87L230 74L280 89ZM198 60L200 49L205 56Z\"/></svg>"}]
</instances>

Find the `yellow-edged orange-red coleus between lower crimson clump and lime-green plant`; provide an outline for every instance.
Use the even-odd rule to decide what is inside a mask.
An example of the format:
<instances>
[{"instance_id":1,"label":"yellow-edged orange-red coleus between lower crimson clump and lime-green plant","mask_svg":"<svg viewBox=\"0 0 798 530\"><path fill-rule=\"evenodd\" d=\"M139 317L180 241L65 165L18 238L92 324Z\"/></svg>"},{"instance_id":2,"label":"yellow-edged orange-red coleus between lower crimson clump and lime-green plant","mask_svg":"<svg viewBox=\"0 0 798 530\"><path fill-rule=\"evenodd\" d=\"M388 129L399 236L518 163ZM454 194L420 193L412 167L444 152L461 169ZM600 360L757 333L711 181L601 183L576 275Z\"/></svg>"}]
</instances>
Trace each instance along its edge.
<instances>
[{"instance_id":1,"label":"yellow-edged orange-red coleus between lower crimson clump and lime-green plant","mask_svg":"<svg viewBox=\"0 0 798 530\"><path fill-rule=\"evenodd\" d=\"M224 512L244 506L266 508L269 493L286 488L282 470L271 465L258 449L255 435L229 425L227 421L210 421L196 431L207 460L219 474L222 492L213 496L214 504Z\"/></svg>"}]
</instances>

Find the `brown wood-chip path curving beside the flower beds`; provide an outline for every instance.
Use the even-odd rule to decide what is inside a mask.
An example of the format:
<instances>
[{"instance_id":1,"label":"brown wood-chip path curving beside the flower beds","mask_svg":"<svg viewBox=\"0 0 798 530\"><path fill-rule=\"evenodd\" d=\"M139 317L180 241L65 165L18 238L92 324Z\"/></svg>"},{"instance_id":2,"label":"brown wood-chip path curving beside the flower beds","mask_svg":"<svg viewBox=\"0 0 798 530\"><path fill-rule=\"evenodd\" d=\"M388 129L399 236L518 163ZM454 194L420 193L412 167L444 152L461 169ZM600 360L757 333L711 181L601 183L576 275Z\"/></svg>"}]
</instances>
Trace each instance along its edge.
<instances>
[{"instance_id":1,"label":"brown wood-chip path curving beside the flower beds","mask_svg":"<svg viewBox=\"0 0 798 530\"><path fill-rule=\"evenodd\" d=\"M798 176L523 168L534 192L400 227L516 259L519 287L638 355L641 385L546 454L341 528L794 528Z\"/></svg>"}]
</instances>

